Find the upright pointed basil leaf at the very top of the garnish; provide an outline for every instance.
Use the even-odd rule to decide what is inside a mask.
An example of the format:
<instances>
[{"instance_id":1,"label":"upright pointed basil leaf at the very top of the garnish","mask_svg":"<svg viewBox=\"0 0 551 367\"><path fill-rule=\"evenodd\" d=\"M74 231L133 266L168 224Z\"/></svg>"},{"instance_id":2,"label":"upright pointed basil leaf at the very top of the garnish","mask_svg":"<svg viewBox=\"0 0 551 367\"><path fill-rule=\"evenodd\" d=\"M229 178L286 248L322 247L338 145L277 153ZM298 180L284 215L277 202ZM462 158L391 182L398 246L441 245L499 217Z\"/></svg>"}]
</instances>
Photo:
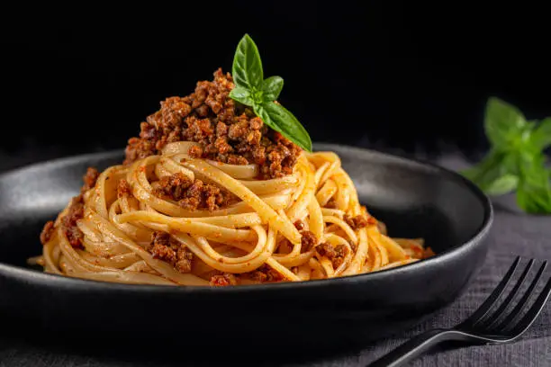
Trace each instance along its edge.
<instances>
[{"instance_id":1,"label":"upright pointed basil leaf at the very top of the garnish","mask_svg":"<svg viewBox=\"0 0 551 367\"><path fill-rule=\"evenodd\" d=\"M233 57L233 67L231 69L235 85L248 89L261 89L264 73L262 71L262 61L258 53L255 42L245 34L239 40L238 48Z\"/></svg>"}]
</instances>

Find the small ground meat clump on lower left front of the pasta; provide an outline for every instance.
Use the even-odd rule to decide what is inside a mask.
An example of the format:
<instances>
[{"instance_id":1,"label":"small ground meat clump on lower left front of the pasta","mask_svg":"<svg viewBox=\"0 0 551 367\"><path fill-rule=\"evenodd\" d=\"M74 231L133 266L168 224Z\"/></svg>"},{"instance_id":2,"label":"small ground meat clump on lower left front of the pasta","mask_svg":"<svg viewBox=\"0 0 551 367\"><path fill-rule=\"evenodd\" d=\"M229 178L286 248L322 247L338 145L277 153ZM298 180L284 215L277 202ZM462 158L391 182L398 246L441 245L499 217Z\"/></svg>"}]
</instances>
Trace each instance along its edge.
<instances>
[{"instance_id":1,"label":"small ground meat clump on lower left front of the pasta","mask_svg":"<svg viewBox=\"0 0 551 367\"><path fill-rule=\"evenodd\" d=\"M194 254L186 246L182 246L175 238L165 232L153 232L149 246L146 246L154 258L163 260L174 266L180 273L192 270Z\"/></svg>"}]
</instances>

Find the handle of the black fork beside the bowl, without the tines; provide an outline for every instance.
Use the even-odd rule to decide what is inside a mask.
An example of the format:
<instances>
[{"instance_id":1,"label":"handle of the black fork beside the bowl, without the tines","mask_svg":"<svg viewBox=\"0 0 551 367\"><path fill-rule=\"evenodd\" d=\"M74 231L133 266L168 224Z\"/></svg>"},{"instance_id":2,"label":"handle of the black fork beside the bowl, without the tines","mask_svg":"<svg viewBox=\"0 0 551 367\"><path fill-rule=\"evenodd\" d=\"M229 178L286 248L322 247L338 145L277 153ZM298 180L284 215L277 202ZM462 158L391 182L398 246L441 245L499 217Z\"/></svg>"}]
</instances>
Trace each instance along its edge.
<instances>
[{"instance_id":1,"label":"handle of the black fork beside the bowl, without the tines","mask_svg":"<svg viewBox=\"0 0 551 367\"><path fill-rule=\"evenodd\" d=\"M385 354L369 367L397 367L411 362L434 345L449 340L465 340L465 334L450 329L432 329L419 336L412 337L389 354Z\"/></svg>"}]
</instances>

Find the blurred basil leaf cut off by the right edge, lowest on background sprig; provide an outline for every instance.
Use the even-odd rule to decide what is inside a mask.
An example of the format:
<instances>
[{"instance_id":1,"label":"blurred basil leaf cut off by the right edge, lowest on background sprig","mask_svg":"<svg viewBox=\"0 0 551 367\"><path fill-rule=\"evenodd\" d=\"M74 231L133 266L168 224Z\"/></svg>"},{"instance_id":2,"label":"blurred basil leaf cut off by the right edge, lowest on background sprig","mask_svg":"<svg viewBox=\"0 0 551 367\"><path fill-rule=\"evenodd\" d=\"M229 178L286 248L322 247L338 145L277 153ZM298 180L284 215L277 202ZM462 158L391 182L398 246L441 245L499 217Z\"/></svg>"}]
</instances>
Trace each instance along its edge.
<instances>
[{"instance_id":1,"label":"blurred basil leaf cut off by the right edge, lowest on background sprig","mask_svg":"<svg viewBox=\"0 0 551 367\"><path fill-rule=\"evenodd\" d=\"M551 213L551 183L543 155L521 167L517 204L528 213Z\"/></svg>"}]
</instances>

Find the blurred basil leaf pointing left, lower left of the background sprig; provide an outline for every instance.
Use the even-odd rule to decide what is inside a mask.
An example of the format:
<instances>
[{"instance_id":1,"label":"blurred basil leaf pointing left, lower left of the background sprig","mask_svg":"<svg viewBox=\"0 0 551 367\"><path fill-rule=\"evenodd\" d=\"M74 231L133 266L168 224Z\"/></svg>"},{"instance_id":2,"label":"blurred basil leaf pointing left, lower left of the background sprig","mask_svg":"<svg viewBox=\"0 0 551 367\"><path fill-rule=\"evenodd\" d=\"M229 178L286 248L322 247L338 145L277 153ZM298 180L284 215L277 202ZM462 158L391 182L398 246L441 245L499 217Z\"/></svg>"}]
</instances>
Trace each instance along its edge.
<instances>
[{"instance_id":1,"label":"blurred basil leaf pointing left, lower left of the background sprig","mask_svg":"<svg viewBox=\"0 0 551 367\"><path fill-rule=\"evenodd\" d=\"M492 150L476 166L462 172L466 178L489 195L502 195L517 188L516 166L505 164L510 155ZM516 160L515 160L516 161Z\"/></svg>"}]
</instances>

